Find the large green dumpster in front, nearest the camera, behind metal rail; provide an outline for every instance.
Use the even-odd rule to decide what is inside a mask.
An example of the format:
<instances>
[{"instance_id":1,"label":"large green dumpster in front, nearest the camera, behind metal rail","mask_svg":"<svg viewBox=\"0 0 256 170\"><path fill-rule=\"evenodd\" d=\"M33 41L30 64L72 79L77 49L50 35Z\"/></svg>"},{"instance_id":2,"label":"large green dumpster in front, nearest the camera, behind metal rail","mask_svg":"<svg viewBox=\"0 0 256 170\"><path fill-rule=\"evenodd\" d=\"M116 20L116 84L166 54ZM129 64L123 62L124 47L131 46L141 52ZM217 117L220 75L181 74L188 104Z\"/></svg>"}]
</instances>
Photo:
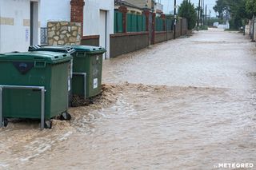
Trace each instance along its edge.
<instances>
[{"instance_id":1,"label":"large green dumpster in front, nearest the camera, behind metal rail","mask_svg":"<svg viewBox=\"0 0 256 170\"><path fill-rule=\"evenodd\" d=\"M0 54L0 89L4 118L44 120L66 114L70 54L26 52ZM45 89L44 107L42 92ZM1 117L1 119L2 119Z\"/></svg>"}]
</instances>

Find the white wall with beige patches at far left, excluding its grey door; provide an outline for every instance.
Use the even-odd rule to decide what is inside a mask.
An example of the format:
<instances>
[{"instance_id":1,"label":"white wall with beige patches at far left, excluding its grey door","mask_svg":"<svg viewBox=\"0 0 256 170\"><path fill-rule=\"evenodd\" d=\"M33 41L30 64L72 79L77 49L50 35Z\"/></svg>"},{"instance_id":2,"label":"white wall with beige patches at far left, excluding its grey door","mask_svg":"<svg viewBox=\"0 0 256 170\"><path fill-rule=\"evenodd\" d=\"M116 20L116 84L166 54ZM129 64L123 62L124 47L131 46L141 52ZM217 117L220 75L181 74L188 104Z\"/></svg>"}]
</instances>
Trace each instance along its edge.
<instances>
[{"instance_id":1,"label":"white wall with beige patches at far left, excluding its grey door","mask_svg":"<svg viewBox=\"0 0 256 170\"><path fill-rule=\"evenodd\" d=\"M26 51L30 45L30 0L0 0L0 19L0 53ZM37 36L39 44L40 34Z\"/></svg>"}]
</instances>

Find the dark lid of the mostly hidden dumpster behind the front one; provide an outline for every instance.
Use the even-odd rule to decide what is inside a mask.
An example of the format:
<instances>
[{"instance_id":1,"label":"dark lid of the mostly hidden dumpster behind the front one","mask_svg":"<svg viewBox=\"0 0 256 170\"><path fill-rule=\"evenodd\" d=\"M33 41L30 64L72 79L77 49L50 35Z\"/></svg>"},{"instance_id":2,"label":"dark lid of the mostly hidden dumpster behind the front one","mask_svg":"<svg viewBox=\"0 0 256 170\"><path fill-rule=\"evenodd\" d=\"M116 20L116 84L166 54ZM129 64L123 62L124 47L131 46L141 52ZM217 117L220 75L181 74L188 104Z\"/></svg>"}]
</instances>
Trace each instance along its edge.
<instances>
[{"instance_id":1,"label":"dark lid of the mostly hidden dumpster behind the front one","mask_svg":"<svg viewBox=\"0 0 256 170\"><path fill-rule=\"evenodd\" d=\"M41 45L31 45L29 51L52 51L58 53L74 53L75 50L71 46L64 45L54 45L54 46L41 46Z\"/></svg>"}]
</instances>

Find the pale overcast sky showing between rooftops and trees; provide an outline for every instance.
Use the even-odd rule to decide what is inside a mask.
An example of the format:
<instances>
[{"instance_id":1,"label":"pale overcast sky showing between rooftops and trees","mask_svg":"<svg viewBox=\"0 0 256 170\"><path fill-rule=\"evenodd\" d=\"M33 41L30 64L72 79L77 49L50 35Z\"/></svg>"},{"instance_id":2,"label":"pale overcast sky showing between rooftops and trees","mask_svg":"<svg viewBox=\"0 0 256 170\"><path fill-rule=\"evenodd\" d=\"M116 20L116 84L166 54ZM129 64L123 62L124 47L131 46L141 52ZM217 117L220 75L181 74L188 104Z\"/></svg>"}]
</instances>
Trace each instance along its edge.
<instances>
[{"instance_id":1,"label":"pale overcast sky showing between rooftops and trees","mask_svg":"<svg viewBox=\"0 0 256 170\"><path fill-rule=\"evenodd\" d=\"M162 2L163 4L163 8L164 8L164 13L165 14L169 14L170 11L173 12L174 11L174 0L156 0L156 2ZM180 5L182 3L183 0L177 0L177 5ZM204 0L205 1L205 6L208 6L208 14L209 14L209 10L211 10L211 17L215 17L216 14L213 10L213 7L215 6L215 2L216 0ZM194 6L198 6L198 0L190 0L190 2L194 3Z\"/></svg>"}]
</instances>

